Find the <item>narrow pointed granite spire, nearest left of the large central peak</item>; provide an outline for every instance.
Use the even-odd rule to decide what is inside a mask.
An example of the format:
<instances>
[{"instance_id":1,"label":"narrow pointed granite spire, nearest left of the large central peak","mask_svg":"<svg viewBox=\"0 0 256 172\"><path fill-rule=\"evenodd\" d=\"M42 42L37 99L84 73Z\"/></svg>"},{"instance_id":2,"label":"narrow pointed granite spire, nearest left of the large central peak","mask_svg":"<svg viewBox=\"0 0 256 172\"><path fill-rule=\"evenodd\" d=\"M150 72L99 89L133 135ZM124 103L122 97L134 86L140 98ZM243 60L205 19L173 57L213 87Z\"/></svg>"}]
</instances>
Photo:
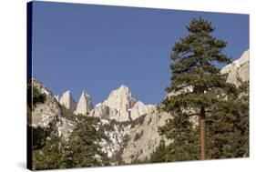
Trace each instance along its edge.
<instances>
[{"instance_id":1,"label":"narrow pointed granite spire, nearest left of the large central peak","mask_svg":"<svg viewBox=\"0 0 256 172\"><path fill-rule=\"evenodd\" d=\"M93 108L94 106L90 96L85 91L83 91L77 103L77 110L75 111L75 114L88 115Z\"/></svg>"}]
</instances>

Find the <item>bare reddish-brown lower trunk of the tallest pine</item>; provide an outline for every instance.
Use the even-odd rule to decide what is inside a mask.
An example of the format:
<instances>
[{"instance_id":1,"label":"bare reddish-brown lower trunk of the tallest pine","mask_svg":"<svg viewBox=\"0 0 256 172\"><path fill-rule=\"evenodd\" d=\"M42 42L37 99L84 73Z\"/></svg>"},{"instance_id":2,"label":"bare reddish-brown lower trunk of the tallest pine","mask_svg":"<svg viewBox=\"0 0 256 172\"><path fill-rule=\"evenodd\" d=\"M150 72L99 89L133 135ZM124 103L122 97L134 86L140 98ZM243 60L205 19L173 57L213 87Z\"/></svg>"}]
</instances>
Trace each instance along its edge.
<instances>
[{"instance_id":1,"label":"bare reddish-brown lower trunk of the tallest pine","mask_svg":"<svg viewBox=\"0 0 256 172\"><path fill-rule=\"evenodd\" d=\"M205 159L205 109L200 107L200 159Z\"/></svg>"}]
</instances>

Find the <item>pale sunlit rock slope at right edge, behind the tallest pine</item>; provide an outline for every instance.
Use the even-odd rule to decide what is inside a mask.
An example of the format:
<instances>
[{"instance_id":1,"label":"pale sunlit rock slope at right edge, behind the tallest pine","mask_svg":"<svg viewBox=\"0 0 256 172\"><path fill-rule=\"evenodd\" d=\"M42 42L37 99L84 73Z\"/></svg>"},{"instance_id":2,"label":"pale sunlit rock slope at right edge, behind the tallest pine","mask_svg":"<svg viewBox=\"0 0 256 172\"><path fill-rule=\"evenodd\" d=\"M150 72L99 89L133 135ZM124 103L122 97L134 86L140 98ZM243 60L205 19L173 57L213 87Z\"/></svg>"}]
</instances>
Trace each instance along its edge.
<instances>
[{"instance_id":1,"label":"pale sunlit rock slope at right edge, behind the tallest pine","mask_svg":"<svg viewBox=\"0 0 256 172\"><path fill-rule=\"evenodd\" d=\"M249 81L250 74L250 51L243 52L242 56L230 65L220 70L221 74L228 74L227 82L240 86L241 81Z\"/></svg>"}]
</instances>

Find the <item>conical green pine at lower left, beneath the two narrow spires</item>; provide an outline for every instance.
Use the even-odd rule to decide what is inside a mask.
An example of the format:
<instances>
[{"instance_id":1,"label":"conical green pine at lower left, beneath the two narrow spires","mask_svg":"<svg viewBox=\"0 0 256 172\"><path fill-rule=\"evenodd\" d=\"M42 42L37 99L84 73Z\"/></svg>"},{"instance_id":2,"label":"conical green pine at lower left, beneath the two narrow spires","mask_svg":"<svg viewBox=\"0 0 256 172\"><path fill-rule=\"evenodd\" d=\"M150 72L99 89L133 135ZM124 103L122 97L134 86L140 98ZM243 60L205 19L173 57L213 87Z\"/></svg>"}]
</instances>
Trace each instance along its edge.
<instances>
[{"instance_id":1,"label":"conical green pine at lower left, beneath the two narrow spires","mask_svg":"<svg viewBox=\"0 0 256 172\"><path fill-rule=\"evenodd\" d=\"M69 137L67 167L97 167L109 165L107 154L99 146L97 123L92 116L78 116L77 126Z\"/></svg>"}]
</instances>

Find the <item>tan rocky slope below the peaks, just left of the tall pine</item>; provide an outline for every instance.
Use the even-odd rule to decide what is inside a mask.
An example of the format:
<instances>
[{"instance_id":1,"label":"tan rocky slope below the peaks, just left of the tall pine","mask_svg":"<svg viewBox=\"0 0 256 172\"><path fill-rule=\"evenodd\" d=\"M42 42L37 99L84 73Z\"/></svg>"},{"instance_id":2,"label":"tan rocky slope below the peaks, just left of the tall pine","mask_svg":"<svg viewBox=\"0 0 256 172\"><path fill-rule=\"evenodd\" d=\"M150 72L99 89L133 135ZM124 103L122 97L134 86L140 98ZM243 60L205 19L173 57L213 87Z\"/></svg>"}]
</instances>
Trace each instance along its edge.
<instances>
[{"instance_id":1,"label":"tan rocky slope below the peaks, just left of the tall pine","mask_svg":"<svg viewBox=\"0 0 256 172\"><path fill-rule=\"evenodd\" d=\"M166 124L171 116L168 113L159 113L156 107L150 114L146 115L142 124L128 126L128 143L124 147L122 159L125 163L139 162L146 160L150 154L159 146L161 139L169 144L169 141L159 135L159 126Z\"/></svg>"}]
</instances>

